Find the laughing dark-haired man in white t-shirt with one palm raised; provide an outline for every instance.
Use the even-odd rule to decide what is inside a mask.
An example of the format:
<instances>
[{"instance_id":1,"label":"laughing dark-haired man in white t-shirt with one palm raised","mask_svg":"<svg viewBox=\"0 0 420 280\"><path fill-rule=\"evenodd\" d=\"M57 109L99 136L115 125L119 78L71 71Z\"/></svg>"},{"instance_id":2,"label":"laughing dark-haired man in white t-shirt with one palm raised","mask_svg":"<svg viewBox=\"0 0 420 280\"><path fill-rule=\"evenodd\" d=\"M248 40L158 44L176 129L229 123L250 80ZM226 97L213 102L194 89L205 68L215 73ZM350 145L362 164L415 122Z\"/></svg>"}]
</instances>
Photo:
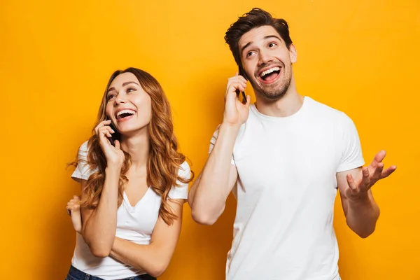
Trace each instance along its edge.
<instances>
[{"instance_id":1,"label":"laughing dark-haired man in white t-shirt with one palm raised","mask_svg":"<svg viewBox=\"0 0 420 280\"><path fill-rule=\"evenodd\" d=\"M370 188L389 176L385 151L365 164L344 113L297 93L297 60L285 20L254 8L226 32L244 76L228 80L223 123L190 190L195 221L213 224L231 190L237 197L226 279L337 280L332 227L337 188L349 228L374 232L379 207ZM253 86L256 103L237 90Z\"/></svg>"}]
</instances>

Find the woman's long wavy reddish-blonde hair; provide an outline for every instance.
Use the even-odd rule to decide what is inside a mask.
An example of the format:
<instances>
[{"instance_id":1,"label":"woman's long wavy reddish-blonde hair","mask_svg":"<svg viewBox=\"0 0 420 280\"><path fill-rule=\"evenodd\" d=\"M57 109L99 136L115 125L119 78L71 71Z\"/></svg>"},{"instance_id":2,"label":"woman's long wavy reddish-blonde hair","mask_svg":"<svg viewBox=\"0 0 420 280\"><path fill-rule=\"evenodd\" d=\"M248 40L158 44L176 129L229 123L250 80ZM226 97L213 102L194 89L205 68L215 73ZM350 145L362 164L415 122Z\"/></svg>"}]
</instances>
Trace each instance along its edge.
<instances>
[{"instance_id":1,"label":"woman's long wavy reddish-blonde hair","mask_svg":"<svg viewBox=\"0 0 420 280\"><path fill-rule=\"evenodd\" d=\"M151 121L148 124L148 134L150 138L150 154L147 162L147 184L150 186L155 193L158 193L162 197L162 203L160 204L159 214L162 219L168 225L172 225L174 219L178 218L172 211L171 207L167 202L169 190L172 186L176 186L176 181L179 180L181 183L190 183L194 178L194 173L191 171L189 179L181 178L178 176L179 168L182 163L186 160L185 155L178 152L178 141L174 134L174 125L172 124L172 113L169 106L165 92L158 83L158 80L153 78L151 74L146 71L128 68L125 70L115 71L109 79L108 85L104 96L102 97L101 106L97 117L96 127L104 120L107 120L106 116L106 93L111 85L112 81L122 73L133 73L137 77L141 87L151 97L152 104L152 116ZM102 188L104 187L105 181L105 168L106 158L102 152L102 148L99 146L99 138L94 134L90 137L87 142L87 165L91 170L97 169L90 175L85 186L85 197L80 204L89 209L95 209L101 198ZM126 152L125 162L121 169L120 181L118 183L118 207L123 203L123 190L128 179L125 174L130 169L131 158ZM70 165L77 166L80 160L71 162Z\"/></svg>"}]
</instances>

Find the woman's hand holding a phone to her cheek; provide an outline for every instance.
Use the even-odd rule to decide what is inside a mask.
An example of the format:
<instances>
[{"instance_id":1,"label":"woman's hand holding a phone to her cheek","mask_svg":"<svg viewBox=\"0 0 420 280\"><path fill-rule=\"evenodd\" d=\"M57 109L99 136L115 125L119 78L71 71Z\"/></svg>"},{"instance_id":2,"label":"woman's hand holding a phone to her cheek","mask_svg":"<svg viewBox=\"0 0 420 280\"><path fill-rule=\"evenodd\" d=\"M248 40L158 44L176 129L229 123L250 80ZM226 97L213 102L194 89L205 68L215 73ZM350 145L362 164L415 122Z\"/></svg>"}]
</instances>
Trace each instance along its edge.
<instances>
[{"instance_id":1,"label":"woman's hand holding a phone to her cheek","mask_svg":"<svg viewBox=\"0 0 420 280\"><path fill-rule=\"evenodd\" d=\"M99 138L99 145L104 152L106 164L121 168L125 160L125 155L120 149L120 141L116 140L115 146L111 145L108 138L112 137L111 134L115 132L109 125L111 125L111 120L104 120L94 128L94 131Z\"/></svg>"}]
</instances>

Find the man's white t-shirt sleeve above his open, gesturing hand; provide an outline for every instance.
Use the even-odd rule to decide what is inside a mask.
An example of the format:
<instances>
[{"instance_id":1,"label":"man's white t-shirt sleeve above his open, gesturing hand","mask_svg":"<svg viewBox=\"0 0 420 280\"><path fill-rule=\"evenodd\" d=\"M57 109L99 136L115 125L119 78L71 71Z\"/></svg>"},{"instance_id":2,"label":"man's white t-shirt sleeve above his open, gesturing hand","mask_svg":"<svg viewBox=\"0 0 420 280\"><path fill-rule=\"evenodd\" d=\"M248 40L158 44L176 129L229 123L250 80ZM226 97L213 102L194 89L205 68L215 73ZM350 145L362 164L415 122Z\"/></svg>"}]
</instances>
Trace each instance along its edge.
<instances>
[{"instance_id":1,"label":"man's white t-shirt sleeve above his open, gesturing hand","mask_svg":"<svg viewBox=\"0 0 420 280\"><path fill-rule=\"evenodd\" d=\"M355 169L365 164L356 125L349 116L342 114L342 157L337 172Z\"/></svg>"}]
</instances>

